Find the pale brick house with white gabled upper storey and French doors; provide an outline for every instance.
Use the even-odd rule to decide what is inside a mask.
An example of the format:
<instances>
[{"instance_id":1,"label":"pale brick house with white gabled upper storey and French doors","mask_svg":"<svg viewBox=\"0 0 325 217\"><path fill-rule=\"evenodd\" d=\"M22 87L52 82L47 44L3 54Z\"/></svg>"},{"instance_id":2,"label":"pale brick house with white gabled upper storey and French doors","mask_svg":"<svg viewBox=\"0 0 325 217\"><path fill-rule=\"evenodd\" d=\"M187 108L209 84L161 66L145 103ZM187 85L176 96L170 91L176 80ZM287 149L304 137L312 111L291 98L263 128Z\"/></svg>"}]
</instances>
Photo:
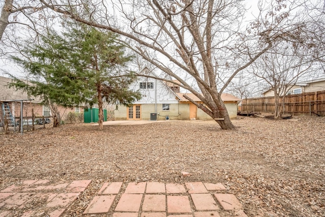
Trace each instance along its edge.
<instances>
[{"instance_id":1,"label":"pale brick house with white gabled upper storey and French doors","mask_svg":"<svg viewBox=\"0 0 325 217\"><path fill-rule=\"evenodd\" d=\"M147 74L157 77L153 72L145 67L141 74ZM174 81L177 83L177 81ZM184 94L180 92L180 87L176 84L161 81L154 78L138 77L130 89L139 90L142 98L131 107L119 105L114 111L115 120L150 120L150 119L172 119L172 120L212 120L204 111L197 108L196 105L186 100L183 95L190 96L196 102L202 103L199 98L193 94ZM237 117L237 104L240 99L230 95L222 94L231 118Z\"/></svg>"}]
</instances>

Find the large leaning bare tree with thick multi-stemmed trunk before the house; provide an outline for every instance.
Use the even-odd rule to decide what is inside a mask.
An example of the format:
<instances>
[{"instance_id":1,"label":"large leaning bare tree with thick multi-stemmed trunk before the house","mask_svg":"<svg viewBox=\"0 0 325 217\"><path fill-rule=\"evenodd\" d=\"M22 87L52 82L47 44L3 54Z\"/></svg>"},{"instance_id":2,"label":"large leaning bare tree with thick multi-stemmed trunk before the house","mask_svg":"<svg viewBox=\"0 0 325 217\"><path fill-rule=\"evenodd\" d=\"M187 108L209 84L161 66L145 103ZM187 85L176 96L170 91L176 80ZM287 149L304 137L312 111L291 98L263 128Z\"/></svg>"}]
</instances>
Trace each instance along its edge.
<instances>
[{"instance_id":1,"label":"large leaning bare tree with thick multi-stemmed trunk before the house","mask_svg":"<svg viewBox=\"0 0 325 217\"><path fill-rule=\"evenodd\" d=\"M265 13L247 30L240 0L39 2L52 14L123 36L129 49L198 97L203 104L184 96L216 119L222 129L235 129L221 100L222 92L275 42L300 40L294 33L304 26L305 18L290 15L303 4L284 0L265 5ZM287 10L282 12L284 8Z\"/></svg>"}]
</instances>

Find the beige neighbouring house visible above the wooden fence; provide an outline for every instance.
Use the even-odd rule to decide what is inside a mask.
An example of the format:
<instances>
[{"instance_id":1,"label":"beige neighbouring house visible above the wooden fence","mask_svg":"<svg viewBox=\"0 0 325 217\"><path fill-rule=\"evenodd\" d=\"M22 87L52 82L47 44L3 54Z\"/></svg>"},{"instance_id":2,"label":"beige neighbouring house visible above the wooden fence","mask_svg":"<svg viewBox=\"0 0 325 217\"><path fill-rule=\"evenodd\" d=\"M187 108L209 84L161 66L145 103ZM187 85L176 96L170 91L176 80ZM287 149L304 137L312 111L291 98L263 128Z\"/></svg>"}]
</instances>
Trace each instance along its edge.
<instances>
[{"instance_id":1,"label":"beige neighbouring house visible above the wooden fence","mask_svg":"<svg viewBox=\"0 0 325 217\"><path fill-rule=\"evenodd\" d=\"M303 94L304 92L315 92L325 90L325 78L319 78L309 81L298 82L291 85L287 95ZM269 89L262 93L263 97L274 97L274 91Z\"/></svg>"}]
</instances>

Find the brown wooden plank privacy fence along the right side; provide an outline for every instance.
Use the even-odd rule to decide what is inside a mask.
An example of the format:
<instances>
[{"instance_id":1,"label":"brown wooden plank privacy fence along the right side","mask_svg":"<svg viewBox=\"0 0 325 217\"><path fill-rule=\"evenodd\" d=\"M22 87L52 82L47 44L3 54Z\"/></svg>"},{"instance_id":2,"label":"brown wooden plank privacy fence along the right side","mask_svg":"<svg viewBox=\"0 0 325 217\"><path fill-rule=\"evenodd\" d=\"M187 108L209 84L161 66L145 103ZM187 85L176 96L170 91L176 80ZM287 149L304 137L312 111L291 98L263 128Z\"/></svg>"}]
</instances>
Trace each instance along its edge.
<instances>
[{"instance_id":1,"label":"brown wooden plank privacy fence along the right side","mask_svg":"<svg viewBox=\"0 0 325 217\"><path fill-rule=\"evenodd\" d=\"M253 112L274 112L274 97L243 99L241 110ZM325 116L325 90L287 95L279 99L283 114L317 114Z\"/></svg>"}]
</instances>

